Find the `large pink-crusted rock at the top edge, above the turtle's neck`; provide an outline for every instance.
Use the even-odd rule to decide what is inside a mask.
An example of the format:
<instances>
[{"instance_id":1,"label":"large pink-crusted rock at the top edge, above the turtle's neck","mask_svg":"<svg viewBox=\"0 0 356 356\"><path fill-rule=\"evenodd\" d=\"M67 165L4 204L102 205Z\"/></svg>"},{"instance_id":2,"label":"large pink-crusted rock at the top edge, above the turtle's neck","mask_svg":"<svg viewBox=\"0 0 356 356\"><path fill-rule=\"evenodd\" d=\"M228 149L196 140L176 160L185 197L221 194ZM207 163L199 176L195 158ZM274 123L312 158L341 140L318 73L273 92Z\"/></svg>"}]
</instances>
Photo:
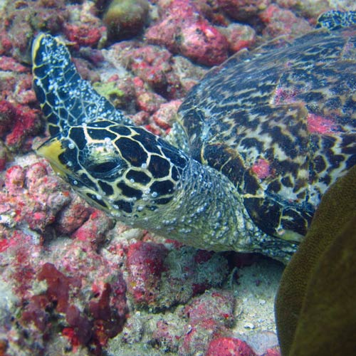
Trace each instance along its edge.
<instances>
[{"instance_id":1,"label":"large pink-crusted rock at the top edge, above the turtle's neck","mask_svg":"<svg viewBox=\"0 0 356 356\"><path fill-rule=\"evenodd\" d=\"M145 36L150 43L166 46L173 53L182 53L207 66L222 63L228 56L226 38L199 14L189 0L168 2L160 21L151 26Z\"/></svg>"}]
</instances>

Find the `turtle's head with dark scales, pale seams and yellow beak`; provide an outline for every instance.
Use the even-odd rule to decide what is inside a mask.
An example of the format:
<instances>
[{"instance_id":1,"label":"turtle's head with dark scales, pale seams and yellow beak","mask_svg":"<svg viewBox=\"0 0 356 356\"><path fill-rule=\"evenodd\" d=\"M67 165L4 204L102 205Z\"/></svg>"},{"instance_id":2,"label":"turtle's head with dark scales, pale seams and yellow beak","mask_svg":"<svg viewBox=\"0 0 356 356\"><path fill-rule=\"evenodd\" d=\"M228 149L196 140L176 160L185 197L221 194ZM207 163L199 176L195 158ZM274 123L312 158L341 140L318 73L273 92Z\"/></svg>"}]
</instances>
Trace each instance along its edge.
<instances>
[{"instance_id":1,"label":"turtle's head with dark scales, pale seams and yellow beak","mask_svg":"<svg viewBox=\"0 0 356 356\"><path fill-rule=\"evenodd\" d=\"M38 155L90 204L126 223L167 206L187 164L183 152L147 130L109 120L70 127Z\"/></svg>"}]
</instances>

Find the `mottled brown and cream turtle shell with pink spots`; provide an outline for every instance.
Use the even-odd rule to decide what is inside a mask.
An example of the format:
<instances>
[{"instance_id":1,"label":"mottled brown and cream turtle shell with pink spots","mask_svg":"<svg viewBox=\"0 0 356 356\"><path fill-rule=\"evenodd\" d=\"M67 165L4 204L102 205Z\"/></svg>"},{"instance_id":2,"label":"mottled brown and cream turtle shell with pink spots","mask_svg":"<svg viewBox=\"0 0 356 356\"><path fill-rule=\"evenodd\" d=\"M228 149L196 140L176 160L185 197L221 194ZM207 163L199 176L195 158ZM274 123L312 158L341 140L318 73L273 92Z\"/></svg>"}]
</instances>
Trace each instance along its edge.
<instances>
[{"instance_id":1,"label":"mottled brown and cream turtle shell with pink spots","mask_svg":"<svg viewBox=\"0 0 356 356\"><path fill-rule=\"evenodd\" d=\"M356 164L356 27L240 51L179 108L190 154L236 184L267 234L300 235Z\"/></svg>"}]
</instances>

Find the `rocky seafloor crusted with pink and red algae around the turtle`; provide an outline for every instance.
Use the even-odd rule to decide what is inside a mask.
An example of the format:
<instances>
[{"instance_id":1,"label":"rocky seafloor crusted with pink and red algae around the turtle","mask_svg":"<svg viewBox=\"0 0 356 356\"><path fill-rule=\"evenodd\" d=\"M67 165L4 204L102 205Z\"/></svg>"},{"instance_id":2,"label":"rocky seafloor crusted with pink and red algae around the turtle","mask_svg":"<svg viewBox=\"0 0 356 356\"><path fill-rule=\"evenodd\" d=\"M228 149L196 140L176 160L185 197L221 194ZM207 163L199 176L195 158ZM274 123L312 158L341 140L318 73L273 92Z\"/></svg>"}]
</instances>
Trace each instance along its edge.
<instances>
[{"instance_id":1,"label":"rocky seafloor crusted with pink and red algae around the turtle","mask_svg":"<svg viewBox=\"0 0 356 356\"><path fill-rule=\"evenodd\" d=\"M310 31L353 1L1 1L0 355L279 355L283 265L129 229L89 206L33 148L46 137L31 38L70 43L83 78L166 135L211 66Z\"/></svg>"}]
</instances>

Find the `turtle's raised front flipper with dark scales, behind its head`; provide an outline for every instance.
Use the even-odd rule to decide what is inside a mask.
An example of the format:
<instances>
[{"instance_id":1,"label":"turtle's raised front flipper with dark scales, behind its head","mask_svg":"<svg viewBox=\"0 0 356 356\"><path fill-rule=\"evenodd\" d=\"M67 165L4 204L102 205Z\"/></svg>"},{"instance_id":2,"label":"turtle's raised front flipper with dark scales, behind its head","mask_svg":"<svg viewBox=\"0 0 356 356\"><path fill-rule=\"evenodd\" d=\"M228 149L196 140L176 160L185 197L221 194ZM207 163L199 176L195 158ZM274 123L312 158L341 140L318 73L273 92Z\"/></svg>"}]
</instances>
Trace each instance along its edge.
<instances>
[{"instance_id":1,"label":"turtle's raised front flipper with dark scales, behind its head","mask_svg":"<svg viewBox=\"0 0 356 356\"><path fill-rule=\"evenodd\" d=\"M80 78L68 49L58 38L40 33L33 41L32 62L33 88L52 136L66 132L70 126L100 119L131 123Z\"/></svg>"}]
</instances>

